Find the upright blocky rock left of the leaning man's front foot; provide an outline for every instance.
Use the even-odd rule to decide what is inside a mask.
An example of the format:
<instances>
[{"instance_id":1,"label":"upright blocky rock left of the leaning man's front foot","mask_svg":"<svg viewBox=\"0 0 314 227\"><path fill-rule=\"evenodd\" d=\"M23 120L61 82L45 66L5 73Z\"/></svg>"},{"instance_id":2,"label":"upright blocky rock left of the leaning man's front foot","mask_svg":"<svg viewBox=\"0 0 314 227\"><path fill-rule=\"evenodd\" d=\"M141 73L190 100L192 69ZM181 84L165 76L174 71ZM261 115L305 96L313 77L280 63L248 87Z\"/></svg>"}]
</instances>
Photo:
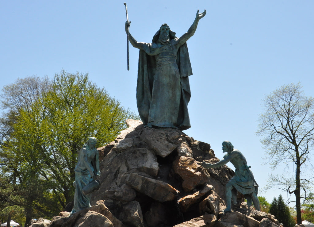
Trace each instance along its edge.
<instances>
[{"instance_id":1,"label":"upright blocky rock left of the leaning man's front foot","mask_svg":"<svg viewBox=\"0 0 314 227\"><path fill-rule=\"evenodd\" d=\"M219 195L215 191L212 191L212 194L199 203L198 208L199 213L211 213L218 217L221 210Z\"/></svg>"}]
</instances>

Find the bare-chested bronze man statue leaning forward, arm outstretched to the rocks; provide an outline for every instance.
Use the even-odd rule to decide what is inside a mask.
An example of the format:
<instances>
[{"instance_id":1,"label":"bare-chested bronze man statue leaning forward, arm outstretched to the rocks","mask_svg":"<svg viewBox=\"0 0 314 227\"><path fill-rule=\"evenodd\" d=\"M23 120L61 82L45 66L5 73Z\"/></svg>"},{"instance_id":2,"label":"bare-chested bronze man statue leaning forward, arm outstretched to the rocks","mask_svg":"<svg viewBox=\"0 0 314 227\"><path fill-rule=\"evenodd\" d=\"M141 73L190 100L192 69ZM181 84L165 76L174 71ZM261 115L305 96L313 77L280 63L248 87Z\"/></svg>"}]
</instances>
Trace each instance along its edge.
<instances>
[{"instance_id":1,"label":"bare-chested bronze man statue leaning forward, arm outstretched to the rocks","mask_svg":"<svg viewBox=\"0 0 314 227\"><path fill-rule=\"evenodd\" d=\"M227 152L222 160L217 163L210 164L202 162L202 166L206 169L216 168L231 162L236 168L235 176L233 176L230 181L226 184L226 205L227 208L224 212L231 212L231 197L233 204L236 205L237 192L241 192L246 200L247 206L250 208L252 206L252 201L256 210L261 210L259 205L259 200L257 198L258 184L256 183L253 173L250 170L251 166L247 166L246 159L243 154L233 148L230 141L224 141L222 143L223 152Z\"/></svg>"}]
</instances>

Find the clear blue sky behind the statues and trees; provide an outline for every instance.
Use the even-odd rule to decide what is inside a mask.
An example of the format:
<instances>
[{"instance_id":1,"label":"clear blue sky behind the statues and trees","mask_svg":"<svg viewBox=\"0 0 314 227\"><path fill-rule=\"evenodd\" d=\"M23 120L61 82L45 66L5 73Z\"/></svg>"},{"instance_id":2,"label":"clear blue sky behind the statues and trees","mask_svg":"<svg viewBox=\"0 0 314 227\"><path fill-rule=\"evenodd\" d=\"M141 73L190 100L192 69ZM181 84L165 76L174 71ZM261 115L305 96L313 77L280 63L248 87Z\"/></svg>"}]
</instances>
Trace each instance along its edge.
<instances>
[{"instance_id":1,"label":"clear blue sky behind the statues and trees","mask_svg":"<svg viewBox=\"0 0 314 227\"><path fill-rule=\"evenodd\" d=\"M271 169L262 165L264 150L254 132L261 100L277 87L300 81L313 95L314 1L133 0L127 6L130 32L142 42L151 42L163 23L183 35L197 10L206 9L187 42L192 127L185 133L210 143L220 159L221 143L230 140L252 166L259 195L268 202L280 193L286 198L285 192L263 191ZM1 1L1 88L26 76L53 78L62 69L88 72L137 112L138 50L130 45L127 71L125 21L125 6L116 0Z\"/></svg>"}]
</instances>

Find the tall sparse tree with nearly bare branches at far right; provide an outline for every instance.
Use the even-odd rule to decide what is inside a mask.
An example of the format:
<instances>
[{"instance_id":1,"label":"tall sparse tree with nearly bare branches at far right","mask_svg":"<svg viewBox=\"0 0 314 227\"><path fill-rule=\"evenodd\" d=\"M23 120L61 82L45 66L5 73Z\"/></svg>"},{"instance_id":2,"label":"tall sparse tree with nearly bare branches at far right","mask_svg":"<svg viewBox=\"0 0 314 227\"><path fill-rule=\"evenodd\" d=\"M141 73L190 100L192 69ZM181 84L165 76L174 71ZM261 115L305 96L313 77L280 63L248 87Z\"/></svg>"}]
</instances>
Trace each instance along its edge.
<instances>
[{"instance_id":1,"label":"tall sparse tree with nearly bare branches at far right","mask_svg":"<svg viewBox=\"0 0 314 227\"><path fill-rule=\"evenodd\" d=\"M301 172L311 166L309 153L314 141L314 99L303 95L298 83L274 90L266 96L263 104L265 112L259 116L257 135L266 136L261 142L270 164L273 169L283 163L287 169L294 170L292 178L270 175L269 187L295 195L297 223L301 224L301 198L306 199L305 192L312 179L311 176L302 177Z\"/></svg>"}]
</instances>

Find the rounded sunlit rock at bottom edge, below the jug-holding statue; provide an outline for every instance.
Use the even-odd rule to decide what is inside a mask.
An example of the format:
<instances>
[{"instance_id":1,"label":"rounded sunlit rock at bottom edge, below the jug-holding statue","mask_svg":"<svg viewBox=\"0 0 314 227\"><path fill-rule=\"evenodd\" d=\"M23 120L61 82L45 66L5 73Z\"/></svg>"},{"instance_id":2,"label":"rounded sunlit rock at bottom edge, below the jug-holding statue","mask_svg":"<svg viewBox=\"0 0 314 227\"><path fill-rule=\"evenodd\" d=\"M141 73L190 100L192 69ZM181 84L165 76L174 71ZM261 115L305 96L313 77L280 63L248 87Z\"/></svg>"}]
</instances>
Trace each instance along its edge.
<instances>
[{"instance_id":1,"label":"rounded sunlit rock at bottom edge, below the jug-holding statue","mask_svg":"<svg viewBox=\"0 0 314 227\"><path fill-rule=\"evenodd\" d=\"M79 219L77 222L79 223L78 225L76 225L77 227L114 227L112 222L108 218L106 218L106 216L95 211L87 212L84 217Z\"/></svg>"}]
</instances>

